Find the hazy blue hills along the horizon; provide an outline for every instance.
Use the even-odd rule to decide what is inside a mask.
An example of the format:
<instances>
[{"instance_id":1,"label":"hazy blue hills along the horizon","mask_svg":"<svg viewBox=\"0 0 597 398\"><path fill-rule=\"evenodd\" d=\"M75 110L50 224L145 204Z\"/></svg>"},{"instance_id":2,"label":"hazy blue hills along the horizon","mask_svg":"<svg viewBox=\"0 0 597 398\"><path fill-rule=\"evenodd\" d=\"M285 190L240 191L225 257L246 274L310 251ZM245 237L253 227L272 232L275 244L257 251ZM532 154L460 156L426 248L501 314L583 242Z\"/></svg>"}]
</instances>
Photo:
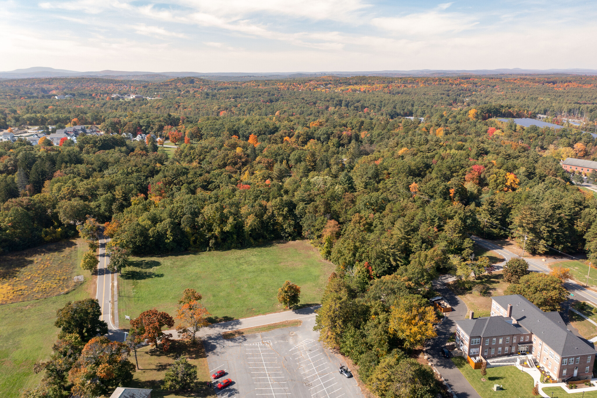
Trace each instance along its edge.
<instances>
[{"instance_id":1,"label":"hazy blue hills along the horizon","mask_svg":"<svg viewBox=\"0 0 597 398\"><path fill-rule=\"evenodd\" d=\"M565 74L565 75L597 75L597 69L472 69L472 70L435 70L420 69L415 71L328 71L328 72L141 72L141 71L96 71L96 72L78 72L68 71L66 69L46 68L44 66L34 66L33 68L15 69L14 71L0 72L0 78L5 79L23 79L23 78L45 78L45 77L110 77L110 78L128 78L128 79L168 79L173 77L195 76L206 77L216 80L233 79L280 79L288 77L316 77L316 76L389 76L389 77L407 77L407 76L456 76L456 75L528 75L528 74Z\"/></svg>"}]
</instances>

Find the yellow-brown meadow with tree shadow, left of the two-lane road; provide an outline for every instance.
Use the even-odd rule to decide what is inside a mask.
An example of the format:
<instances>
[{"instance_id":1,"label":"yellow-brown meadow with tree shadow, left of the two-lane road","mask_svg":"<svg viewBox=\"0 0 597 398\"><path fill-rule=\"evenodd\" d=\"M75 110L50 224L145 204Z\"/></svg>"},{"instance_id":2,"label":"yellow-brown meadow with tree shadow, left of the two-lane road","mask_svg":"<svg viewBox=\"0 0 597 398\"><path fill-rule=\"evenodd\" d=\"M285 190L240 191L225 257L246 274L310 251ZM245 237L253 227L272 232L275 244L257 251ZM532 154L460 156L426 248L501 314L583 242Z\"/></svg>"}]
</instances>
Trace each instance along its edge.
<instances>
[{"instance_id":1,"label":"yellow-brown meadow with tree shadow, left of the two-lane road","mask_svg":"<svg viewBox=\"0 0 597 398\"><path fill-rule=\"evenodd\" d=\"M46 298L75 287L87 244L63 240L0 256L0 304Z\"/></svg>"}]
</instances>

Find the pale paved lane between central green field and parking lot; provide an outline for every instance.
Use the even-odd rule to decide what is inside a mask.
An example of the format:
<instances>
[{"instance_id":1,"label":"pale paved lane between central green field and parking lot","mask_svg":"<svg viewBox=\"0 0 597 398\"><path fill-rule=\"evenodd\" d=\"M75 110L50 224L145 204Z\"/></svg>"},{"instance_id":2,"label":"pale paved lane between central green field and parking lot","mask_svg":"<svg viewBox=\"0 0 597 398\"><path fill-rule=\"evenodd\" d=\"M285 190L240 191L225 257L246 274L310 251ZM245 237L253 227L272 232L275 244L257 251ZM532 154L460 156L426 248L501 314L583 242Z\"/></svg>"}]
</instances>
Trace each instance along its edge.
<instances>
[{"instance_id":1,"label":"pale paved lane between central green field and parking lot","mask_svg":"<svg viewBox=\"0 0 597 398\"><path fill-rule=\"evenodd\" d=\"M222 332L231 332L232 330L245 329L246 327L263 326L266 324L284 322L287 320L315 317L315 310L317 310L319 307L321 307L321 305L301 308L300 310L282 311L281 313L235 319L229 322L214 323L211 326L204 327L199 330L199 332L197 332L197 336L208 336ZM164 333L172 333L172 338L179 338L179 333L177 333L176 330L165 330Z\"/></svg>"}]
</instances>

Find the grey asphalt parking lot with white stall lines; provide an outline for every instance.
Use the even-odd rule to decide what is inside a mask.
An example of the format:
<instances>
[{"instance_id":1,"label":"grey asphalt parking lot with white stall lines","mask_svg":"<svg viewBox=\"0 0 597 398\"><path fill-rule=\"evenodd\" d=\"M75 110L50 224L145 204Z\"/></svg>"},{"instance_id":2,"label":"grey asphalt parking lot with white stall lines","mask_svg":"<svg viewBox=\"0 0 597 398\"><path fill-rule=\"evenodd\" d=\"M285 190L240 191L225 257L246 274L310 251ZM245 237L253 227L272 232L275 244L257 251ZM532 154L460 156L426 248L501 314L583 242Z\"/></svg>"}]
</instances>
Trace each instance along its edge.
<instances>
[{"instance_id":1,"label":"grey asphalt parking lot with white stall lines","mask_svg":"<svg viewBox=\"0 0 597 398\"><path fill-rule=\"evenodd\" d=\"M355 378L338 373L341 362L317 341L315 316L298 327L285 327L255 335L204 340L210 374L220 369L232 384L217 390L220 398L340 398L364 397ZM217 384L217 383L214 383Z\"/></svg>"}]
</instances>

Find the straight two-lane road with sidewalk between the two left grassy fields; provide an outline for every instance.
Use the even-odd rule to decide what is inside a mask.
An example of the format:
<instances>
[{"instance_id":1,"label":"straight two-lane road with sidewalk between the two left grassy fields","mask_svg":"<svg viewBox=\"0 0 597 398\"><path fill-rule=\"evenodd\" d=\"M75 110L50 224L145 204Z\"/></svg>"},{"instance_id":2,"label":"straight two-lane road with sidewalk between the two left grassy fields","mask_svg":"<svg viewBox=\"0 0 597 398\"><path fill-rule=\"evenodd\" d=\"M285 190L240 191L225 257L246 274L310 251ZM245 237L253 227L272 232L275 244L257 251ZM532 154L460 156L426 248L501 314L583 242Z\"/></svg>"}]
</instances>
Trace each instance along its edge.
<instances>
[{"instance_id":1,"label":"straight two-lane road with sidewalk between the two left grassy fields","mask_svg":"<svg viewBox=\"0 0 597 398\"><path fill-rule=\"evenodd\" d=\"M124 341L124 332L118 329L118 275L110 273L107 266L110 256L106 252L106 244L110 238L100 239L100 264L97 265L97 300L100 302L100 320L108 324L108 337L112 341ZM113 308L112 308L113 307ZM114 318L112 319L112 310Z\"/></svg>"}]
</instances>

